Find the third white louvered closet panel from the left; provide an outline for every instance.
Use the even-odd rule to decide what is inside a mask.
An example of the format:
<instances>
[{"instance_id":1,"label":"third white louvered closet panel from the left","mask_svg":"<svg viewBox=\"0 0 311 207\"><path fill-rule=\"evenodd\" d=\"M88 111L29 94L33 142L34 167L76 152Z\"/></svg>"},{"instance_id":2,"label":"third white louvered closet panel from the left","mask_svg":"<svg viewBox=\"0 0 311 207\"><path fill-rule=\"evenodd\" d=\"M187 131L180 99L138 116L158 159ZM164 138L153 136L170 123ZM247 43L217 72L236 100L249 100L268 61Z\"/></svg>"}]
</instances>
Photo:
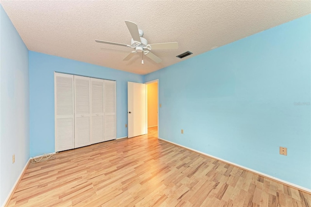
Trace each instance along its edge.
<instances>
[{"instance_id":1,"label":"third white louvered closet panel from the left","mask_svg":"<svg viewBox=\"0 0 311 207\"><path fill-rule=\"evenodd\" d=\"M91 143L104 142L104 80L91 78Z\"/></svg>"}]
</instances>

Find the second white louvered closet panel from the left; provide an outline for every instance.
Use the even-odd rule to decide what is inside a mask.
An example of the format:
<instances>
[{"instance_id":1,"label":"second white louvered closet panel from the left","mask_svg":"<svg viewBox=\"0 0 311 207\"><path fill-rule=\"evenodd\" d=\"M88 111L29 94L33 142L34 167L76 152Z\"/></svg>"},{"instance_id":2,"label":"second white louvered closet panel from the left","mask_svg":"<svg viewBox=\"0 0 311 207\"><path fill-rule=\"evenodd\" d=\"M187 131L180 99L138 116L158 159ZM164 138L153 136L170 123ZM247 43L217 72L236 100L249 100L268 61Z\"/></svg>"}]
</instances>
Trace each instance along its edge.
<instances>
[{"instance_id":1,"label":"second white louvered closet panel from the left","mask_svg":"<svg viewBox=\"0 0 311 207\"><path fill-rule=\"evenodd\" d=\"M74 76L74 147L91 144L90 78Z\"/></svg>"}]
</instances>

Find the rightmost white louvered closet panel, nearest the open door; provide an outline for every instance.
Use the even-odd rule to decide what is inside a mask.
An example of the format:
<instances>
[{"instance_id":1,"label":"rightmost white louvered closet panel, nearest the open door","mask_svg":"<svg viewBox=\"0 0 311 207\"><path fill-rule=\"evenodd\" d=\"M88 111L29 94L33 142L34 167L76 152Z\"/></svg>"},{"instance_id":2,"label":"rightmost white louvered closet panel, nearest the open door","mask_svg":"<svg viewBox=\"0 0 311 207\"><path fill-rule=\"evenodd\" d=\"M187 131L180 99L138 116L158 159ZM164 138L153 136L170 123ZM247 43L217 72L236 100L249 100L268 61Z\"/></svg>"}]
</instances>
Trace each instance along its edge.
<instances>
[{"instance_id":1,"label":"rightmost white louvered closet panel, nearest the open door","mask_svg":"<svg viewBox=\"0 0 311 207\"><path fill-rule=\"evenodd\" d=\"M117 138L116 81L104 80L104 140Z\"/></svg>"}]
</instances>

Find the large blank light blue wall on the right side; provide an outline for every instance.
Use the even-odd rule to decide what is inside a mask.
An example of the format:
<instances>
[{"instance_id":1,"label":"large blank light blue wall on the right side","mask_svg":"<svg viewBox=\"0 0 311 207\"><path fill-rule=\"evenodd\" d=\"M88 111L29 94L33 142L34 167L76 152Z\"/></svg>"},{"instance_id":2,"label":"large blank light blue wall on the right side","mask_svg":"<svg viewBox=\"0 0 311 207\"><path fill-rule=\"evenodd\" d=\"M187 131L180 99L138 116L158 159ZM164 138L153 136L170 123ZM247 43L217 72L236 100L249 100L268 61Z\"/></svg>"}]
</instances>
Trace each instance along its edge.
<instances>
[{"instance_id":1,"label":"large blank light blue wall on the right side","mask_svg":"<svg viewBox=\"0 0 311 207\"><path fill-rule=\"evenodd\" d=\"M155 79L160 138L311 189L311 15L144 76Z\"/></svg>"}]
</instances>

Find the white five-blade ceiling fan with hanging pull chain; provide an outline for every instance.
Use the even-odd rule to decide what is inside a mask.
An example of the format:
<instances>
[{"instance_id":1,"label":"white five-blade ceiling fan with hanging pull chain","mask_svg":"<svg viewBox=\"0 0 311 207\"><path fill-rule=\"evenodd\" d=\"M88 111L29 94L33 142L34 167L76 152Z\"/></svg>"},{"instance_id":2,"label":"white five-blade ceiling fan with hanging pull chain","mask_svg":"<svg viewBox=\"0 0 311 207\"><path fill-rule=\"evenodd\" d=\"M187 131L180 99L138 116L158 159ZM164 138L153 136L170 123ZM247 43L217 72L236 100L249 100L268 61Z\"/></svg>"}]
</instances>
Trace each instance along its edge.
<instances>
[{"instance_id":1,"label":"white five-blade ceiling fan with hanging pull chain","mask_svg":"<svg viewBox=\"0 0 311 207\"><path fill-rule=\"evenodd\" d=\"M157 57L154 53L150 52L150 50L178 48L177 42L148 44L148 41L142 37L144 32L142 30L138 30L138 26L136 23L131 21L125 21L125 24L132 35L131 45L102 40L95 40L95 42L134 48L134 50L123 59L123 61L130 60L136 53L142 53L142 57L143 55L146 55L148 58L155 61L155 63L160 63L162 60L159 57ZM141 60L141 64L144 64L143 59Z\"/></svg>"}]
</instances>

